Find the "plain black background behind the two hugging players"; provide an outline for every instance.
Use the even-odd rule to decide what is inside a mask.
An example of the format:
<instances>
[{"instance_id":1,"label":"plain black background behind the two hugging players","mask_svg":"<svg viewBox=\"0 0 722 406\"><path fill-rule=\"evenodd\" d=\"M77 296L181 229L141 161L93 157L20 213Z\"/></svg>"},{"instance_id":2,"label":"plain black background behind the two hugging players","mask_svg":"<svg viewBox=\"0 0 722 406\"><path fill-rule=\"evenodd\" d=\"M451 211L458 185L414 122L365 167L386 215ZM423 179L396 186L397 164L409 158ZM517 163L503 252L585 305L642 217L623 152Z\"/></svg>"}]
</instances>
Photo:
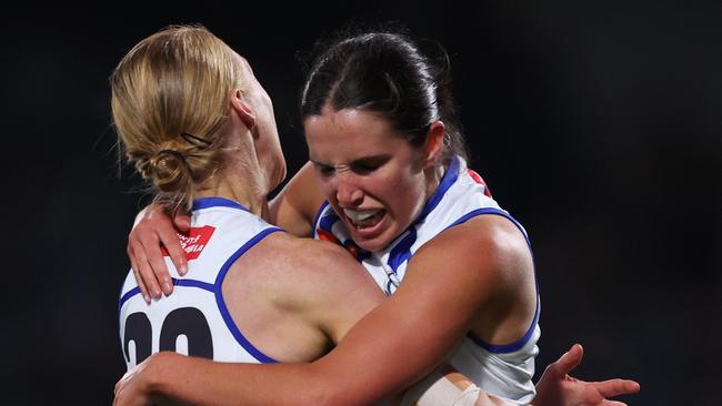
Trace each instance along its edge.
<instances>
[{"instance_id":1,"label":"plain black background behind the two hugging players","mask_svg":"<svg viewBox=\"0 0 722 406\"><path fill-rule=\"evenodd\" d=\"M304 160L298 57L349 19L399 20L448 50L471 166L528 229L542 290L538 369L624 376L632 405L719 398L722 3L108 3L6 10L3 405L109 405L117 300L144 202L119 170L108 77L136 42L200 22L245 55ZM119 176L120 175L120 176Z\"/></svg>"}]
</instances>

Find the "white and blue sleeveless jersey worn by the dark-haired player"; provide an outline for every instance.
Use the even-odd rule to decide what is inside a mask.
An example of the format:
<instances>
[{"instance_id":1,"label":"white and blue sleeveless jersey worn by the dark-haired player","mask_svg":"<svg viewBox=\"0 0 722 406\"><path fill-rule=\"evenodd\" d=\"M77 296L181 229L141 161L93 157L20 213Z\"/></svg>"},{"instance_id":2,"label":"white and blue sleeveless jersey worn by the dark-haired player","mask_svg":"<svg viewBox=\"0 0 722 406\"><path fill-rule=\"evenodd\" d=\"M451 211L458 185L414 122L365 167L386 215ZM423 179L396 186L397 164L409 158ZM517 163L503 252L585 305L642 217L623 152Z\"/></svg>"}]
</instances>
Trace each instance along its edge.
<instances>
[{"instance_id":1,"label":"white and blue sleeveless jersey worn by the dark-haired player","mask_svg":"<svg viewBox=\"0 0 722 406\"><path fill-rule=\"evenodd\" d=\"M402 283L409 261L423 244L444 230L482 214L509 219L529 243L521 224L500 209L482 179L467 169L461 158L457 158L419 217L384 250L371 253L357 246L345 224L328 202L323 203L315 216L314 237L347 247L373 276L379 287L391 295ZM534 357L539 353L537 342L541 335L539 314L538 295L534 319L521 339L498 346L487 344L469 333L450 363L481 389L520 404L530 403L535 394L531 378L534 375Z\"/></svg>"}]
</instances>

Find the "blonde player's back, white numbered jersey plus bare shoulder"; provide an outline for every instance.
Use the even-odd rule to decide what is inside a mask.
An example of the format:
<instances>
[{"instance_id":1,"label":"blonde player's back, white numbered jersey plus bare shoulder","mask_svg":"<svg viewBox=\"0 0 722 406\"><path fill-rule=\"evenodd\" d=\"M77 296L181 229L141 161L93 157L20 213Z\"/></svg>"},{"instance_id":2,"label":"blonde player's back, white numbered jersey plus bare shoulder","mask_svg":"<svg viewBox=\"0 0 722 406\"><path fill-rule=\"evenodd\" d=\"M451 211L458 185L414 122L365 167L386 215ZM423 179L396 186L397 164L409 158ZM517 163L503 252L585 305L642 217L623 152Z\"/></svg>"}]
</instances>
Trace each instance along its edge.
<instances>
[{"instance_id":1,"label":"blonde player's back, white numbered jersey plus bare shoulder","mask_svg":"<svg viewBox=\"0 0 722 406\"><path fill-rule=\"evenodd\" d=\"M120 298L129 368L159 351L221 362L304 362L384 298L363 267L332 244L299 238L240 204L198 200L181 236L189 272L169 257L174 292L147 304L132 270Z\"/></svg>"}]
</instances>

